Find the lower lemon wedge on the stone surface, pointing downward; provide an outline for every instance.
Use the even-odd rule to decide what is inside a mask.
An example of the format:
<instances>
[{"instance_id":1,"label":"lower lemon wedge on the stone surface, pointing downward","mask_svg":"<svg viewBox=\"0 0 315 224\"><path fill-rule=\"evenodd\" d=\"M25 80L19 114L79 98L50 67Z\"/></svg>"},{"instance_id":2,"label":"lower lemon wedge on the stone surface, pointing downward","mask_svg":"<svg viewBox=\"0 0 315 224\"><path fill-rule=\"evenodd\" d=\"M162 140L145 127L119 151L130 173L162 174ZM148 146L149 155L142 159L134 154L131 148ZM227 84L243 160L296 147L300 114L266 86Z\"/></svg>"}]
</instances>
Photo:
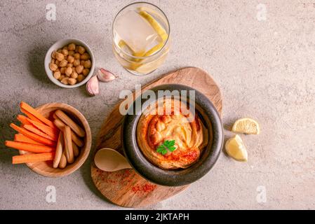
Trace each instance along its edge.
<instances>
[{"instance_id":1,"label":"lower lemon wedge on the stone surface, pointing downward","mask_svg":"<svg viewBox=\"0 0 315 224\"><path fill-rule=\"evenodd\" d=\"M239 135L236 134L235 137L227 140L225 143L225 151L227 152L227 155L234 158L234 160L247 162L248 154L246 147Z\"/></svg>"}]
</instances>

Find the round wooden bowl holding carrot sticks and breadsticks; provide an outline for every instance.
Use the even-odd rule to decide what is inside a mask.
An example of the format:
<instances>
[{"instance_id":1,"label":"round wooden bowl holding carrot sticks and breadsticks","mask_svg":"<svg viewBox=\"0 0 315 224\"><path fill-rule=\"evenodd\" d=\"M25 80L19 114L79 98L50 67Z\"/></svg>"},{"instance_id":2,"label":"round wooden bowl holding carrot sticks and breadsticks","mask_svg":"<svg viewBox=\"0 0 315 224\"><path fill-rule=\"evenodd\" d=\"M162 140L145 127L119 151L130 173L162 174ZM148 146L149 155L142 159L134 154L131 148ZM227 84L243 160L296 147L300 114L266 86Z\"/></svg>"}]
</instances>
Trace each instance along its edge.
<instances>
[{"instance_id":1,"label":"round wooden bowl holding carrot sticks and breadsticks","mask_svg":"<svg viewBox=\"0 0 315 224\"><path fill-rule=\"evenodd\" d=\"M67 167L64 169L53 168L53 161L29 162L26 164L29 169L32 169L33 172L41 174L42 176L60 177L72 174L76 171L76 169L79 169L79 167L83 165L83 162L85 162L86 158L88 158L88 153L91 151L92 136L90 126L88 125L86 118L84 118L82 113L80 113L77 109L67 104L61 103L43 104L42 106L36 108L36 110L39 111L43 116L46 118L51 118L51 120L53 119L53 112L58 109L67 113L70 118L83 127L83 129L86 131L86 136L84 137L85 144L83 147L81 147L80 155L75 158L74 163L67 165ZM24 154L27 154L27 152L20 151L20 155Z\"/></svg>"}]
</instances>

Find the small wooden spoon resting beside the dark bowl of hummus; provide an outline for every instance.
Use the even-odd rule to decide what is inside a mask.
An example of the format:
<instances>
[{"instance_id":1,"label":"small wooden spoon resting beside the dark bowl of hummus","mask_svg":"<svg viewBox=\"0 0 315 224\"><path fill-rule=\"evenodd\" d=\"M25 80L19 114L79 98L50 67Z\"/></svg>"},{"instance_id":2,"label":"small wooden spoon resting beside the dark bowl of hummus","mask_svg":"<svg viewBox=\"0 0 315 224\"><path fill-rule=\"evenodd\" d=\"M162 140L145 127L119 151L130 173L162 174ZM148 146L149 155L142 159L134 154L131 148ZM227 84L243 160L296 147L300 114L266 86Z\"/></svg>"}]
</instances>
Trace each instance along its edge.
<instances>
[{"instance_id":1,"label":"small wooden spoon resting beside the dark bowl of hummus","mask_svg":"<svg viewBox=\"0 0 315 224\"><path fill-rule=\"evenodd\" d=\"M98 169L106 172L132 168L126 158L112 148L101 148L95 154L94 162Z\"/></svg>"}]
</instances>

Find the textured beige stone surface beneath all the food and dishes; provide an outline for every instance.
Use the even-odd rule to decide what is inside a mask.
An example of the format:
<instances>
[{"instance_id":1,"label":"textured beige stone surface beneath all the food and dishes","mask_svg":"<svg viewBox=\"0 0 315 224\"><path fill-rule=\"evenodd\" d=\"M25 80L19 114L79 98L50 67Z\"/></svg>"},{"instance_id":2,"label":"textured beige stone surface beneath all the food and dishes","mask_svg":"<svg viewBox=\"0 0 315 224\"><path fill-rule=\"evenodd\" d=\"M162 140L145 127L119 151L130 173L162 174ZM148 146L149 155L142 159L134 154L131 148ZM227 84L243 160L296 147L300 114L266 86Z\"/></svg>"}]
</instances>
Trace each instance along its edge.
<instances>
[{"instance_id":1,"label":"textured beige stone surface beneath all the food and dishes","mask_svg":"<svg viewBox=\"0 0 315 224\"><path fill-rule=\"evenodd\" d=\"M173 48L149 76L124 71L112 54L112 21L129 1L56 1L57 20L46 20L48 1L0 2L0 209L119 209L93 187L91 158L70 176L49 179L25 165L11 165L17 152L9 123L23 100L34 106L65 102L88 119L93 137L101 121L132 90L167 71L198 66L213 75L224 95L224 126L255 118L259 136L242 136L248 162L221 155L215 168L185 192L149 209L315 209L315 6L311 1L152 1L168 15ZM257 8L258 7L258 8ZM260 19L261 14L258 14ZM43 57L60 38L86 41L96 65L119 79L88 97L84 87L62 89L46 77ZM226 136L231 136L226 130ZM46 202L55 186L57 202ZM267 202L257 202L259 186ZM258 188L258 189L257 189Z\"/></svg>"}]
</instances>

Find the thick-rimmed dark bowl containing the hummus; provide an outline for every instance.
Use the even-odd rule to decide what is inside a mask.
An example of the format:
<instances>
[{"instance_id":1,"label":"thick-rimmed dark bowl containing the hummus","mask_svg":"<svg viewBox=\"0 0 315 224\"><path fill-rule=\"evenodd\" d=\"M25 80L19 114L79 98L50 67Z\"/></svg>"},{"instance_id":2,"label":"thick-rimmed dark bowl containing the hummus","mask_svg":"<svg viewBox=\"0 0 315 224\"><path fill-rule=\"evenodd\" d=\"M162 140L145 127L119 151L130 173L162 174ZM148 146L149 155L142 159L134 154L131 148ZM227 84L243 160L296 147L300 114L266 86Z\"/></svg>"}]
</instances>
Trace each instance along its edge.
<instances>
[{"instance_id":1,"label":"thick-rimmed dark bowl containing the hummus","mask_svg":"<svg viewBox=\"0 0 315 224\"><path fill-rule=\"evenodd\" d=\"M158 90L170 90L170 92L172 92L173 90L189 91L194 89L185 85L171 84L159 85L151 90L157 93ZM157 95L158 94L156 94L156 96ZM187 94L187 97L189 97L189 94ZM147 99L141 99L141 105L145 104L145 102L147 102ZM196 113L199 114L199 117L203 120L203 124L208 128L210 139L197 162L186 169L174 170L156 167L156 165L149 162L149 160L145 158L145 155L142 154L142 151L138 147L136 137L138 120L141 113L136 114L133 110L135 108L135 102L133 102L133 106L130 106L129 113L123 120L121 130L123 152L135 171L148 181L162 186L184 186L206 175L213 165L215 165L223 145L223 128L220 115L210 100L197 90L195 90L194 102L196 105ZM130 113L131 111L133 111L133 113Z\"/></svg>"}]
</instances>

